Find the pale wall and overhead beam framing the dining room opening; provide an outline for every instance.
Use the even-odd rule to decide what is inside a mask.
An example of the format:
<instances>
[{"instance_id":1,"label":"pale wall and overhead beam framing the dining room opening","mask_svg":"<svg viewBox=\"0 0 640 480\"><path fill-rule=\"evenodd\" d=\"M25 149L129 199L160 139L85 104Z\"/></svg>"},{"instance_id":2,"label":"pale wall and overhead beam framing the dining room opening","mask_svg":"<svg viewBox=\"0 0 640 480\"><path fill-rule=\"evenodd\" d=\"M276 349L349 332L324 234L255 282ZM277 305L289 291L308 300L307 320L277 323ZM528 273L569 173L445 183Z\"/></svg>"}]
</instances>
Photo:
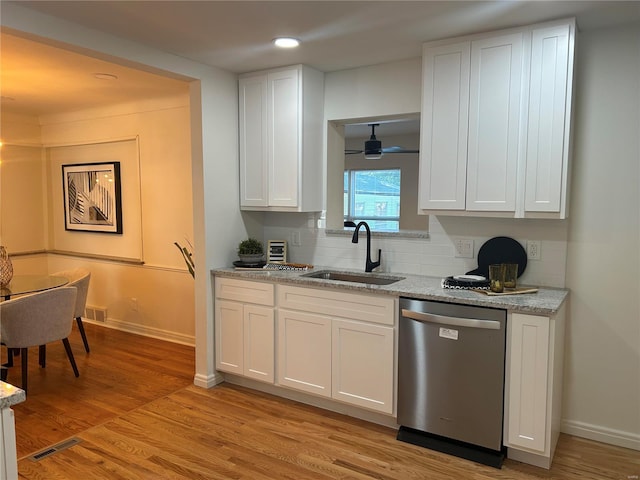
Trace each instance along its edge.
<instances>
[{"instance_id":1,"label":"pale wall and overhead beam framing the dining room opening","mask_svg":"<svg viewBox=\"0 0 640 480\"><path fill-rule=\"evenodd\" d=\"M69 49L189 81L190 146L196 278L194 383L210 387L222 378L214 368L213 267L227 265L247 235L239 208L237 77L215 67L60 21L17 4L2 4L3 27L61 42ZM144 176L144 172L142 172ZM225 208L220 208L224 205ZM143 213L144 216L144 213ZM189 279L191 280L191 279ZM162 295L166 295L161 290ZM188 305L185 304L187 308Z\"/></svg>"}]
</instances>

